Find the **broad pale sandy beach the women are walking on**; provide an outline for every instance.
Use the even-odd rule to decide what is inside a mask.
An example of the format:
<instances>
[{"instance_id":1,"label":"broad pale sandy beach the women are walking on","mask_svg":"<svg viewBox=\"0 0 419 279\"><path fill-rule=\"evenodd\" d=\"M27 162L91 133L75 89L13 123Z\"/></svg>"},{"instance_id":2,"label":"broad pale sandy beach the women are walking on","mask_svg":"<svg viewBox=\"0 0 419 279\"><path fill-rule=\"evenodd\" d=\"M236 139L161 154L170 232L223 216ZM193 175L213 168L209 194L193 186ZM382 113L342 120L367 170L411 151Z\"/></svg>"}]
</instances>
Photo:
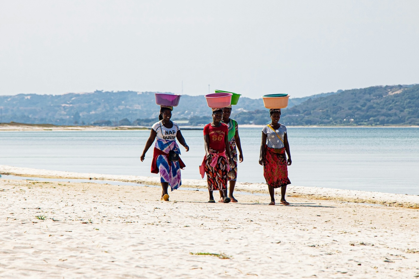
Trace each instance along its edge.
<instances>
[{"instance_id":1,"label":"broad pale sandy beach the women are walking on","mask_svg":"<svg viewBox=\"0 0 419 279\"><path fill-rule=\"evenodd\" d=\"M0 166L0 173L12 174L11 170L15 175L20 171L24 176L48 176L43 170ZM66 172L50 171L49 177L54 173L64 179ZM68 179L74 176L67 173ZM298 187L290 186L290 206L268 206L267 189L251 189L254 185L245 189L241 185L235 194L238 204L208 204L207 191L197 191L205 190L200 183L196 189L173 191L170 201L162 202L160 188L151 186L157 179L150 180L155 181L145 183L150 186L117 186L10 180L3 176L0 276L419 275L419 209L408 208L418 202L419 196L396 195L405 200L398 206L383 206L345 202L350 195L344 194L342 200L304 196L293 193ZM192 181L185 184L191 188ZM323 194L329 191L330 197L342 191L317 190ZM353 196L361 194L353 192Z\"/></svg>"}]
</instances>

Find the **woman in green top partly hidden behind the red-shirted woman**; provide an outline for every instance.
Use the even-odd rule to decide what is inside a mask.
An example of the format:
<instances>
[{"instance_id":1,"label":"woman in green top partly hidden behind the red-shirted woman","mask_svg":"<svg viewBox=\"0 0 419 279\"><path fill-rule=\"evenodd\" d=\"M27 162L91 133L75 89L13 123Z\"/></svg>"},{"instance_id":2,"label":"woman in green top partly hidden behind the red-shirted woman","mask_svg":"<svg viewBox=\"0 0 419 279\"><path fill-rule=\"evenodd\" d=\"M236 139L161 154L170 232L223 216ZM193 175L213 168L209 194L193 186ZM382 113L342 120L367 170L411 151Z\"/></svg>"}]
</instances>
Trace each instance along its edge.
<instances>
[{"instance_id":1,"label":"woman in green top partly hidden behind the red-shirted woman","mask_svg":"<svg viewBox=\"0 0 419 279\"><path fill-rule=\"evenodd\" d=\"M237 199L233 196L234 186L237 179L237 150L239 152L239 162L243 162L243 151L241 150L240 137L238 136L238 124L234 119L230 119L231 105L222 109L222 120L221 122L226 124L228 127L228 143L230 145L230 154L234 162L234 168L231 168L228 172L228 181L230 181L230 190L228 197L231 202L237 202ZM220 191L220 201L225 197L223 192Z\"/></svg>"}]
</instances>

